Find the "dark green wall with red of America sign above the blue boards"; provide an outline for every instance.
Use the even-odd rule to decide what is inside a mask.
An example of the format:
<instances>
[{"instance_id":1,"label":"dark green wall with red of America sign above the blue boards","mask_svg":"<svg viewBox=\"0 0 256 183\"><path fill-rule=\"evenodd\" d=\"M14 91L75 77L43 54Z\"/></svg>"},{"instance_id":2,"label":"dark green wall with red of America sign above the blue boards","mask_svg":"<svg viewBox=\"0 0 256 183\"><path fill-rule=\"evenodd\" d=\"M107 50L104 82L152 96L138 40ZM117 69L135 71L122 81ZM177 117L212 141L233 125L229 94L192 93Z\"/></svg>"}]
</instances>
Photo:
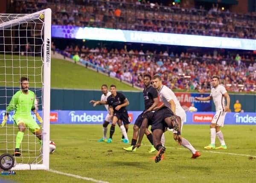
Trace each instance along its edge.
<instances>
[{"instance_id":1,"label":"dark green wall with red of America sign above the blue boards","mask_svg":"<svg viewBox=\"0 0 256 183\"><path fill-rule=\"evenodd\" d=\"M15 88L15 92L18 88ZM41 103L41 89L31 89L35 92ZM0 109L6 108L6 103L9 103L12 95L15 93L12 88L0 87ZM123 92L130 101L127 107L130 111L143 111L144 101L142 92ZM104 106L93 107L90 100L100 100L101 91L99 90L77 90L77 89L51 89L51 110L105 110ZM215 111L215 106L212 101L197 102L195 97L205 97L208 93L188 93L175 92L182 106L190 106L195 103L198 111ZM5 97L7 96L7 98ZM256 112L256 94L230 94L230 109L233 111L233 105L236 100L242 105L244 112ZM41 109L41 106L38 106Z\"/></svg>"}]
</instances>

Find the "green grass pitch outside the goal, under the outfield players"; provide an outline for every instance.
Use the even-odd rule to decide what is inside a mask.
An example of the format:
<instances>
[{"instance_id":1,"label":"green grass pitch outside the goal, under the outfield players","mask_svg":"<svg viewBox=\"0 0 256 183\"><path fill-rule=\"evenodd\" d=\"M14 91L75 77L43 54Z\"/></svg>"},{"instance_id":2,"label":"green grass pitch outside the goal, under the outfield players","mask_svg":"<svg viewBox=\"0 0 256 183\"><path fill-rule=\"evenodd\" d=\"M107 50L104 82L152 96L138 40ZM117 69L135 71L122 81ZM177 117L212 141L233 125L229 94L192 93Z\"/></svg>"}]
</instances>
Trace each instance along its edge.
<instances>
[{"instance_id":1,"label":"green grass pitch outside the goal, under the outfield players","mask_svg":"<svg viewBox=\"0 0 256 183\"><path fill-rule=\"evenodd\" d=\"M4 129L1 129L1 133ZM187 138L201 157L191 159L191 153L165 133L164 160L150 160L155 153L148 153L148 140L137 152L125 152L127 144L121 142L121 132L116 127L113 143L99 143L101 125L51 125L51 140L56 152L50 154L50 169L90 177L113 183L253 183L256 180L256 126L224 126L222 129L228 149L206 150L209 144L208 125L184 125L183 137ZM109 131L108 131L109 135ZM128 131L131 140L132 125ZM216 145L219 141L216 138ZM218 154L214 152L221 152ZM231 153L231 154L228 154ZM243 156L243 154L250 156ZM90 182L47 171L16 171L13 176L1 176L6 180L31 182Z\"/></svg>"}]
</instances>

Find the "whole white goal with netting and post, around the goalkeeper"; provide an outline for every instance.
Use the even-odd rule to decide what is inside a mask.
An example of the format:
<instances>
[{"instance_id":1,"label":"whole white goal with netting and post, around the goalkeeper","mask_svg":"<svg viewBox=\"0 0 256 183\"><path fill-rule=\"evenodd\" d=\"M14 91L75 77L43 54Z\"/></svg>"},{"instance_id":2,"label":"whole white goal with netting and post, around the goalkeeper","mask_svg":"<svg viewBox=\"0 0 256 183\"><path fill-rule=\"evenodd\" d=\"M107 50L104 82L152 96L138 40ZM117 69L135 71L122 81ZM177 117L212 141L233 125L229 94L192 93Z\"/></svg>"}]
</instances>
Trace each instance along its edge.
<instances>
[{"instance_id":1,"label":"whole white goal with netting and post, around the goalkeeper","mask_svg":"<svg viewBox=\"0 0 256 183\"><path fill-rule=\"evenodd\" d=\"M40 143L32 130L25 129L19 148L21 156L15 156L16 170L49 169L50 46L51 9L33 14L0 14L0 123L13 95L20 92L21 77L29 79L35 108L43 118L39 123L31 111L42 129L43 140ZM7 123L0 127L0 155L15 152L19 128L14 123L14 113L15 110L10 112Z\"/></svg>"}]
</instances>

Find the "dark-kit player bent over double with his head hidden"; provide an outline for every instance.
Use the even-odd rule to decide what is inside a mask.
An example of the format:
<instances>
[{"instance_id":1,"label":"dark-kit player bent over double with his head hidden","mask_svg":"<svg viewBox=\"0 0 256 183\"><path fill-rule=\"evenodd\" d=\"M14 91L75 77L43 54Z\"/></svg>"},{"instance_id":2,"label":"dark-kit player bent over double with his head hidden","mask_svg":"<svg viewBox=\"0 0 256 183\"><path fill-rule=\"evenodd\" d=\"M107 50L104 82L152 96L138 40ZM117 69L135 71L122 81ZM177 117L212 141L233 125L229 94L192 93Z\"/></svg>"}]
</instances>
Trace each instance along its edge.
<instances>
[{"instance_id":1,"label":"dark-kit player bent over double with his head hidden","mask_svg":"<svg viewBox=\"0 0 256 183\"><path fill-rule=\"evenodd\" d=\"M171 109L163 106L161 109L157 111L147 112L143 115L143 123L140 127L140 135L139 140L136 145L133 146L133 149L136 147L139 148L141 146L141 141L143 139L143 135L145 133L145 129L148 125L151 125L151 131L153 133L153 143L155 149L157 149L157 155L154 158L155 162L158 163L163 153L166 151L166 148L161 143L161 138L163 133L166 131L166 128L175 129L177 131L177 135L175 136L175 140L178 141L178 145L182 144L181 137L181 119L180 117L174 115Z\"/></svg>"}]
</instances>

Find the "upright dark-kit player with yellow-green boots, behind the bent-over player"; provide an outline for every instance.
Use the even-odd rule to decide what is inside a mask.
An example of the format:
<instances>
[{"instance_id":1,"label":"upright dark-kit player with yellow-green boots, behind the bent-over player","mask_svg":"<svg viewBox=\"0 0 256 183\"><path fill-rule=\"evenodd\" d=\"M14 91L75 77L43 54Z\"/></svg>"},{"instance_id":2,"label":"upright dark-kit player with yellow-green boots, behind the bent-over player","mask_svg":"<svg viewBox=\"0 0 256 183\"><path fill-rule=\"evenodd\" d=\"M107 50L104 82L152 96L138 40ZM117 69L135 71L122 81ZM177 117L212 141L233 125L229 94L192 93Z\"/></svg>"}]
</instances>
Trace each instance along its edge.
<instances>
[{"instance_id":1,"label":"upright dark-kit player with yellow-green boots, behind the bent-over player","mask_svg":"<svg viewBox=\"0 0 256 183\"><path fill-rule=\"evenodd\" d=\"M144 104L145 104L145 110L137 117L135 123L134 123L134 132L133 132L133 137L131 140L131 146L127 148L123 148L128 152L135 152L136 149L132 150L132 147L136 144L137 138L139 135L139 129L143 121L143 115L146 112L152 111L155 107L157 107L158 104L158 95L157 95L157 90L154 89L153 86L151 86L151 75L150 74L145 74L143 76L143 82L144 82L144 90L143 90L143 97L144 97ZM153 139L152 139L152 133L148 130L145 129L145 135L147 136L149 142L151 143L151 149L149 152L155 152L156 149L154 148L153 145Z\"/></svg>"}]
</instances>

